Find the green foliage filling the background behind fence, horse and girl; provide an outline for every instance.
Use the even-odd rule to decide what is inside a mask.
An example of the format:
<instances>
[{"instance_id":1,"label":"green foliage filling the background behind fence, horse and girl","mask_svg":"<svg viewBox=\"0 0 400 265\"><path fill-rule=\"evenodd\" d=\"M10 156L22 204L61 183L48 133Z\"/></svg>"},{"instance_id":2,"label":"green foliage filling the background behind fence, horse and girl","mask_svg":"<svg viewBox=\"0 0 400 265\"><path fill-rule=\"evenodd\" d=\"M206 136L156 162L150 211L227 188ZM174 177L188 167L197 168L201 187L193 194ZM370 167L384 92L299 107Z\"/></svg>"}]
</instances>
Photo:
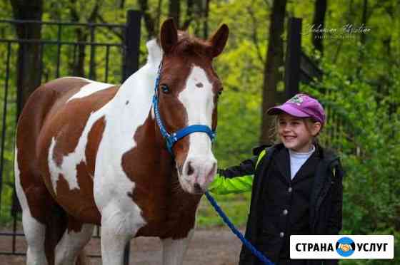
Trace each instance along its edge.
<instances>
[{"instance_id":1,"label":"green foliage filling the background behind fence, horse and girl","mask_svg":"<svg viewBox=\"0 0 400 265\"><path fill-rule=\"evenodd\" d=\"M86 22L96 1L45 1L44 20L71 21L71 9L79 11L79 21ZM126 8L139 9L134 0L126 1L120 9L116 1L98 1L100 16L104 21L123 24ZM329 1L326 27L342 28L345 24L361 24L365 1ZM215 67L224 85L219 100L219 126L214 155L219 167L236 165L251 155L258 144L261 124L262 85L264 64L269 36L269 15L272 1L210 1L209 33L221 23L230 28L229 41L224 53L216 58ZM149 1L149 14L158 12L159 1ZM301 90L319 98L326 107L328 123L321 134L321 142L341 155L346 170L344 180L344 234L394 234L395 256L399 256L400 231L400 181L397 171L400 165L400 9L396 1L368 1L365 43L357 34L326 36L324 54L314 55L321 59L324 79L314 85L304 85ZM183 5L182 13L185 6ZM168 3L161 3L161 19L166 19ZM303 31L312 23L314 1L289 1L288 15L303 18ZM0 17L11 17L9 1L0 1ZM183 17L182 15L181 17ZM195 21L189 31L201 36ZM75 41L77 28L65 28L62 41ZM89 31L84 30L84 33ZM43 38L56 39L56 26L46 26ZM90 34L89 34L90 35ZM15 38L14 28L0 25L0 38ZM286 33L284 35L286 37ZM145 43L148 39L142 21L141 64L146 61ZM89 37L87 38L89 41ZM113 31L96 31L97 42L121 43L121 35ZM311 34L304 33L302 48L314 54ZM0 88L6 84L6 46L0 45ZM14 128L16 103L16 51L11 46L9 69L8 115L4 147L4 185L1 194L0 222L9 219L13 186ZM43 81L56 76L56 46L44 48ZM96 79L119 83L121 80L121 50L111 48L109 65L106 51L96 48ZM91 50L85 49L85 75L89 75ZM60 76L72 75L71 64L76 56L71 46L61 46ZM105 70L109 68L106 78ZM269 77L266 77L269 78ZM0 116L2 116L4 90L0 90ZM249 209L249 194L218 196L217 202L233 219L234 224L244 227ZM198 225L209 227L222 225L206 199L202 199L198 212ZM394 261L400 264L398 261ZM389 262L388 262L389 263ZM341 264L384 264L384 261L342 261ZM391 261L393 264L393 261Z\"/></svg>"}]
</instances>

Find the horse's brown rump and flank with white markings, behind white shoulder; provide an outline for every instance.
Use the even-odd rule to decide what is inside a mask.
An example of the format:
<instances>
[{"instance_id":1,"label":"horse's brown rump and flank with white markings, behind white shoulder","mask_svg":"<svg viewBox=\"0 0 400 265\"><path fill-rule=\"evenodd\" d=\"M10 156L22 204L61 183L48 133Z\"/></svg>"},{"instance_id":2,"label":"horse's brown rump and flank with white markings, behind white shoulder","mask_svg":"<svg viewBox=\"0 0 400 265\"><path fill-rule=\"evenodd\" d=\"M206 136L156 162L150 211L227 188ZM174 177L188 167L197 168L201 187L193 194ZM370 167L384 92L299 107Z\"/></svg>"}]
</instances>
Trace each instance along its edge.
<instances>
[{"instance_id":1,"label":"horse's brown rump and flank with white markings, behind white shoulder","mask_svg":"<svg viewBox=\"0 0 400 265\"><path fill-rule=\"evenodd\" d=\"M93 113L117 89L84 78L59 78L32 93L19 118L16 137L16 172L29 208L38 203L35 197L46 197L46 201L51 194L72 215L87 212L85 221L99 222L91 176L104 120L101 116L94 120ZM85 132L86 142L79 146ZM71 203L75 200L79 203ZM36 215L44 218L46 214Z\"/></svg>"}]
</instances>

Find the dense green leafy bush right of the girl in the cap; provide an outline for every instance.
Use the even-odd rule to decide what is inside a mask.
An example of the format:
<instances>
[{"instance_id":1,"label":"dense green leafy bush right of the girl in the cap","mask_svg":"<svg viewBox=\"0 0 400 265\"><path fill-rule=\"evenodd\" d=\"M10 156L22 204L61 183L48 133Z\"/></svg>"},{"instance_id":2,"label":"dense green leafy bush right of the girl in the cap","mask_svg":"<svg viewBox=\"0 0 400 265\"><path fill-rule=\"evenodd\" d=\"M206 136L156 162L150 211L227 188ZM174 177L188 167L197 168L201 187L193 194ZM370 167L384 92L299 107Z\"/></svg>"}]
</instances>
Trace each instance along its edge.
<instances>
[{"instance_id":1,"label":"dense green leafy bush right of the girl in the cap","mask_svg":"<svg viewBox=\"0 0 400 265\"><path fill-rule=\"evenodd\" d=\"M324 71L317 87L302 89L326 105L329 121L321 140L340 151L346 169L344 227L355 234L399 229L398 88L377 93L364 78L347 76L328 63Z\"/></svg>"}]
</instances>

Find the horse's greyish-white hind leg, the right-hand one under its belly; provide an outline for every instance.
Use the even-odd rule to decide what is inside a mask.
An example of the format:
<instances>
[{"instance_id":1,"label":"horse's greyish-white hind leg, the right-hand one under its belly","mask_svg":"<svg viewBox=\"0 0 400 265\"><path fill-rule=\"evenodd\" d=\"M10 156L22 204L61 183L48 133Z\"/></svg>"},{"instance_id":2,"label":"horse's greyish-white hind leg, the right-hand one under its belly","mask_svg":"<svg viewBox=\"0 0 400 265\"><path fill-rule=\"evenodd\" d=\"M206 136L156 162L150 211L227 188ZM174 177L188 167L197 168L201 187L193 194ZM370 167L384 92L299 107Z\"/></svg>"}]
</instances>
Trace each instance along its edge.
<instances>
[{"instance_id":1,"label":"horse's greyish-white hind leg, the right-hand one under its belly","mask_svg":"<svg viewBox=\"0 0 400 265\"><path fill-rule=\"evenodd\" d=\"M85 264L77 263L80 252L91 239L93 224L82 224L73 217L68 218L68 226L56 246L56 265ZM84 256L81 257L84 259Z\"/></svg>"}]
</instances>

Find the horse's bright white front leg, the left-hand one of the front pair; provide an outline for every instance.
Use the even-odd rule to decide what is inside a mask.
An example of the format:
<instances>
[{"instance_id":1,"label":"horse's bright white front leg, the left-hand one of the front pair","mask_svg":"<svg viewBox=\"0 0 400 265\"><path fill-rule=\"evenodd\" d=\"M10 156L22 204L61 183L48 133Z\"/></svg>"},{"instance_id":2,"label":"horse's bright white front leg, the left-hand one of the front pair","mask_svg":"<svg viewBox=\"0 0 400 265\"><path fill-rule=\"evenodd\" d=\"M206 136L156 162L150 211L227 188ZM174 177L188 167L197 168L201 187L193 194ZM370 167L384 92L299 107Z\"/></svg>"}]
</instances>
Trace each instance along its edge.
<instances>
[{"instance_id":1,"label":"horse's bright white front leg, the left-hand one of the front pair","mask_svg":"<svg viewBox=\"0 0 400 265\"><path fill-rule=\"evenodd\" d=\"M103 265L122 265L126 243L134 237L143 221L139 212L109 207L101 216L101 259Z\"/></svg>"}]
</instances>

